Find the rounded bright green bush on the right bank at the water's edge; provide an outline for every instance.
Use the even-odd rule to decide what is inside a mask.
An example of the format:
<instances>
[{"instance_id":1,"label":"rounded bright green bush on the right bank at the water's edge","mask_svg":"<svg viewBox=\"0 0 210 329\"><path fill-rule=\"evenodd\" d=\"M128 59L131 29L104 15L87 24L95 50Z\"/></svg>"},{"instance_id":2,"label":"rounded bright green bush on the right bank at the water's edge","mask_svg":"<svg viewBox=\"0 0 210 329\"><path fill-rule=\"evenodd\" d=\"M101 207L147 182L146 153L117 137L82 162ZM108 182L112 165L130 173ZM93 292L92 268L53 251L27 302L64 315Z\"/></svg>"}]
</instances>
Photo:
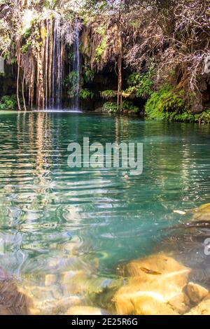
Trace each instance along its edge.
<instances>
[{"instance_id":1,"label":"rounded bright green bush on the right bank at the water's edge","mask_svg":"<svg viewBox=\"0 0 210 329\"><path fill-rule=\"evenodd\" d=\"M145 106L148 118L156 120L191 120L183 91L174 92L170 85L153 92Z\"/></svg>"}]
</instances>

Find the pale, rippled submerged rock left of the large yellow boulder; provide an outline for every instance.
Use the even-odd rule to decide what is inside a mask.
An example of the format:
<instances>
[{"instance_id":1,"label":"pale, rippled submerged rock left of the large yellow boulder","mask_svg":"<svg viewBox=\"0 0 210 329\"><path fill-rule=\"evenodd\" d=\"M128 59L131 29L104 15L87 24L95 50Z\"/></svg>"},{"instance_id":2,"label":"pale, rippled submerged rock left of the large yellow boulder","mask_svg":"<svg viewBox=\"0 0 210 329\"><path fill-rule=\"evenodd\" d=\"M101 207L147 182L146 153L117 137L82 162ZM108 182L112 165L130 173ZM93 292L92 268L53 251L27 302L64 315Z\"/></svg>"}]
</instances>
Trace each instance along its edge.
<instances>
[{"instance_id":1,"label":"pale, rippled submerged rock left of the large yellow boulder","mask_svg":"<svg viewBox=\"0 0 210 329\"><path fill-rule=\"evenodd\" d=\"M102 310L109 305L114 289L122 286L122 280L99 277L82 269L46 274L39 285L32 283L28 279L22 286L22 293L34 301L30 313L40 315L70 314L70 310L75 311L74 307L81 311L83 307L78 307L83 304L94 304Z\"/></svg>"}]
</instances>

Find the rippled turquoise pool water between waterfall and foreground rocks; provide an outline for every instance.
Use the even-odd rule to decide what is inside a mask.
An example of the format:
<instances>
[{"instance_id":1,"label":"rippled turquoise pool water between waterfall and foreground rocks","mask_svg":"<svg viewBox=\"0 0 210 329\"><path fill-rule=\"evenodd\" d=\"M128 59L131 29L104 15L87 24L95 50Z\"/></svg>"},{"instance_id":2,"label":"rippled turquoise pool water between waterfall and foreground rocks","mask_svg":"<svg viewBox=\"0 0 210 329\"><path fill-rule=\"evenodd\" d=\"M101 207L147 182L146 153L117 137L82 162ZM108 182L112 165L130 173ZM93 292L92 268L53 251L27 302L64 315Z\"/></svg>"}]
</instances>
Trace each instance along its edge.
<instances>
[{"instance_id":1,"label":"rippled turquoise pool water between waterfall and foreground rocks","mask_svg":"<svg viewBox=\"0 0 210 329\"><path fill-rule=\"evenodd\" d=\"M75 304L87 279L100 290L119 262L151 253L165 228L183 221L174 210L209 202L209 132L84 113L1 113L1 267L45 302ZM70 169L67 146L83 137L143 142L144 173Z\"/></svg>"}]
</instances>

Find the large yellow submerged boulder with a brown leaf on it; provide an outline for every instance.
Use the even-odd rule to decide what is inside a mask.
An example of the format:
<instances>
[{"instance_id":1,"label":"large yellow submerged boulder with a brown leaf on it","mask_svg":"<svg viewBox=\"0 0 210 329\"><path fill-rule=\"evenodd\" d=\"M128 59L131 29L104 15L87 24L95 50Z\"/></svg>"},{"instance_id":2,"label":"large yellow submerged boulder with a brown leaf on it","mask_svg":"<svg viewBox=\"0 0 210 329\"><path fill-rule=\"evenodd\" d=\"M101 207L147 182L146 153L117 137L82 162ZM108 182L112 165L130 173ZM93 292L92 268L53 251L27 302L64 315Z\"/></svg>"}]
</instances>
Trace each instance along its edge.
<instances>
[{"instance_id":1,"label":"large yellow submerged boulder with a brown leaf on it","mask_svg":"<svg viewBox=\"0 0 210 329\"><path fill-rule=\"evenodd\" d=\"M117 314L183 314L183 300L173 301L188 282L190 269L164 254L151 255L123 265L127 284L113 297Z\"/></svg>"}]
</instances>

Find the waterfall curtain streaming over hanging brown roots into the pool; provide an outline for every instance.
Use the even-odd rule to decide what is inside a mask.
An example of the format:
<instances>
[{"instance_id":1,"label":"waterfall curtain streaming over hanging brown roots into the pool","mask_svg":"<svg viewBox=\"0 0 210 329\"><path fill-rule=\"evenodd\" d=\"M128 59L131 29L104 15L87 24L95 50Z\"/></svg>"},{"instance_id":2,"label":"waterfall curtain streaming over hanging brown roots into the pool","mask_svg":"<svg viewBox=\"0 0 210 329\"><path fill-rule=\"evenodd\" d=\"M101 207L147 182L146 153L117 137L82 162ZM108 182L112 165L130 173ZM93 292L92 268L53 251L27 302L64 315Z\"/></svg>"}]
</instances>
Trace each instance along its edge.
<instances>
[{"instance_id":1,"label":"waterfall curtain streaming over hanging brown roots into the pool","mask_svg":"<svg viewBox=\"0 0 210 329\"><path fill-rule=\"evenodd\" d=\"M45 111L62 110L62 90L64 81L64 57L66 45L73 45L72 70L74 78L73 110L79 108L79 87L80 87L80 53L79 53L79 32L80 22L76 20L74 27L64 25L59 15L55 15L53 20L44 22L41 26L45 39L41 55L38 56L36 99L37 109ZM33 63L32 63L33 64ZM32 66L32 73L34 73ZM33 76L31 74L31 76ZM33 104L33 83L29 89L29 99ZM32 106L32 105L31 105Z\"/></svg>"}]
</instances>

